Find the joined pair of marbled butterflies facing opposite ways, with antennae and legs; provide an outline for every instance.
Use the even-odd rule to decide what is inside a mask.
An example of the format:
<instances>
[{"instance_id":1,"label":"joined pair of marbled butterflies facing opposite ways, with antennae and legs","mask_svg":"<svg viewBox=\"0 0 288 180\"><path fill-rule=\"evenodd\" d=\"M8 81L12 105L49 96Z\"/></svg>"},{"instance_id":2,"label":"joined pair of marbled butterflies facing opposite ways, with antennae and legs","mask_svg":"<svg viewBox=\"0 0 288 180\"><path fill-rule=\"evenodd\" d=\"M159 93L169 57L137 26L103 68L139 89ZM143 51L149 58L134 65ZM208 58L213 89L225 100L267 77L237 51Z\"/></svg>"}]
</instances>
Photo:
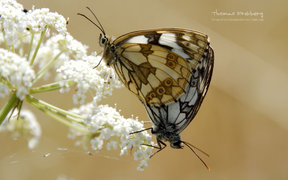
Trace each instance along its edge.
<instances>
[{"instance_id":1,"label":"joined pair of marbled butterflies facing opposite ways, with antennae and legs","mask_svg":"<svg viewBox=\"0 0 288 180\"><path fill-rule=\"evenodd\" d=\"M158 151L166 147L163 141L172 148L187 145L179 134L198 112L213 72L214 51L209 37L188 29L161 28L112 39L102 26L97 27L104 34L99 37L99 45L104 48L102 59L139 98L153 122L148 129L156 136L158 147L144 145Z\"/></svg>"}]
</instances>

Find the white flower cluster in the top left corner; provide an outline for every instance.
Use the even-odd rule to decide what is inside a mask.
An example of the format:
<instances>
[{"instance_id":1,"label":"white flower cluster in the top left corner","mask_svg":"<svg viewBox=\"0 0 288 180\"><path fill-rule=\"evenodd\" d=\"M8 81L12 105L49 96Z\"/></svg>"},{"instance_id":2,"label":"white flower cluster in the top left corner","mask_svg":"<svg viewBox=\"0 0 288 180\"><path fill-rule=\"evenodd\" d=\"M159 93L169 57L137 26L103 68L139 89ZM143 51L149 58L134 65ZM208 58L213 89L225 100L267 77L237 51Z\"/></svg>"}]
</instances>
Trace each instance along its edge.
<instances>
[{"instance_id":1,"label":"white flower cluster in the top left corner","mask_svg":"<svg viewBox=\"0 0 288 180\"><path fill-rule=\"evenodd\" d=\"M9 46L19 47L20 40L29 42L31 34L41 33L46 25L55 28L63 36L67 35L66 19L58 13L51 13L49 9L36 9L24 12L21 4L14 0L0 1L0 29ZM0 41L0 42L1 42Z\"/></svg>"}]
</instances>

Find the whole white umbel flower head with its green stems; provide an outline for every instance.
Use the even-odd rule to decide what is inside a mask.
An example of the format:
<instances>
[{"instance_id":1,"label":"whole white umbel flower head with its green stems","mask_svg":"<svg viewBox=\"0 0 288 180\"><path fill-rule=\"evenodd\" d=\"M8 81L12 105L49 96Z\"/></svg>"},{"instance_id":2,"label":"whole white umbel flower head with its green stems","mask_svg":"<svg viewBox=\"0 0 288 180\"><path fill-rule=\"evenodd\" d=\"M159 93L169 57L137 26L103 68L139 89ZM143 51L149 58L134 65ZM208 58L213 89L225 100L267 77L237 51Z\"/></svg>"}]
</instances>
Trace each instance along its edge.
<instances>
[{"instance_id":1,"label":"whole white umbel flower head with its green stems","mask_svg":"<svg viewBox=\"0 0 288 180\"><path fill-rule=\"evenodd\" d=\"M35 148L41 142L41 128L32 111L25 109L29 103L68 126L68 138L78 138L76 145L94 151L120 149L119 155L133 148L134 160L140 162L137 170L147 167L153 147L141 144L153 145L150 134L130 135L143 129L138 118L126 119L116 107L100 104L122 85L113 69L102 63L94 68L101 57L96 53L87 56L88 46L67 32L69 18L47 8L32 6L27 11L14 0L0 0L0 6L0 98L8 99L0 110L0 132L11 132L15 139L24 137L28 147ZM45 84L51 78L55 82ZM44 85L37 87L38 81ZM77 89L73 102L81 106L70 111L33 97L52 90L65 93L71 86ZM93 101L87 103L89 95Z\"/></svg>"}]
</instances>

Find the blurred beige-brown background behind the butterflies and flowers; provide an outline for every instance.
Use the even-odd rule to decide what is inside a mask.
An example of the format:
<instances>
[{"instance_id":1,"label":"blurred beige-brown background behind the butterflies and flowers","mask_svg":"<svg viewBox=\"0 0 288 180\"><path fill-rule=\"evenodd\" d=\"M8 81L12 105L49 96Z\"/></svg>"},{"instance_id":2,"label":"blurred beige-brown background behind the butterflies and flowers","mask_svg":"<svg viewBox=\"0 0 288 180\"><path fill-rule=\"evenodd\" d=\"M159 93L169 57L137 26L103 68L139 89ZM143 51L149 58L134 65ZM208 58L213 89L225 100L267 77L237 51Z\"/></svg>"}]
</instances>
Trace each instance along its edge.
<instances>
[{"instance_id":1,"label":"blurred beige-brown background behind the butterflies and flowers","mask_svg":"<svg viewBox=\"0 0 288 180\"><path fill-rule=\"evenodd\" d=\"M0 134L0 179L288 179L288 13L287 1L191 0L18 0L26 9L49 8L69 17L68 31L100 52L100 30L76 13L92 17L90 6L105 32L115 37L153 28L178 27L210 37L215 65L210 89L195 119L181 133L182 139L210 154L198 155L187 147L165 148L153 156L143 172L136 171L133 156L119 157L119 150L87 155L67 139L67 127L34 107L43 137L34 151L27 142ZM264 21L212 21L212 12L263 13ZM251 16L231 16L231 18ZM37 94L38 95L38 94ZM74 107L71 93L39 94L63 109ZM60 99L60 101L59 101ZM1 101L1 107L3 99ZM103 104L121 109L124 117L148 121L144 107L127 89L116 89ZM150 127L150 124L146 125ZM155 141L155 139L154 139ZM58 148L66 148L60 151ZM43 157L50 153L48 157Z\"/></svg>"}]
</instances>

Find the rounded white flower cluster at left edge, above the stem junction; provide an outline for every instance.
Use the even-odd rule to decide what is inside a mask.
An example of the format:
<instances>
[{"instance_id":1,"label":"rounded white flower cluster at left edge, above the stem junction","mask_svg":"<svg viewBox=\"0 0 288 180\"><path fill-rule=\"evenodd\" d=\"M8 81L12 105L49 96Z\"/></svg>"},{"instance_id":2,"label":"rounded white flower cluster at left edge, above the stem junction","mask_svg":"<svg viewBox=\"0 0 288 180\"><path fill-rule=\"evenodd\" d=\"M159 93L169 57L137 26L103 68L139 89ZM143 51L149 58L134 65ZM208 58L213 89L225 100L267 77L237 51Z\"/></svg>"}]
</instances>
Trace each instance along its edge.
<instances>
[{"instance_id":1,"label":"rounded white flower cluster at left edge, above the stem junction","mask_svg":"<svg viewBox=\"0 0 288 180\"><path fill-rule=\"evenodd\" d=\"M4 98L11 90L16 90L16 96L21 101L28 94L28 87L32 86L35 72L25 58L0 48L0 75L4 81L0 82L0 97Z\"/></svg>"}]
</instances>

